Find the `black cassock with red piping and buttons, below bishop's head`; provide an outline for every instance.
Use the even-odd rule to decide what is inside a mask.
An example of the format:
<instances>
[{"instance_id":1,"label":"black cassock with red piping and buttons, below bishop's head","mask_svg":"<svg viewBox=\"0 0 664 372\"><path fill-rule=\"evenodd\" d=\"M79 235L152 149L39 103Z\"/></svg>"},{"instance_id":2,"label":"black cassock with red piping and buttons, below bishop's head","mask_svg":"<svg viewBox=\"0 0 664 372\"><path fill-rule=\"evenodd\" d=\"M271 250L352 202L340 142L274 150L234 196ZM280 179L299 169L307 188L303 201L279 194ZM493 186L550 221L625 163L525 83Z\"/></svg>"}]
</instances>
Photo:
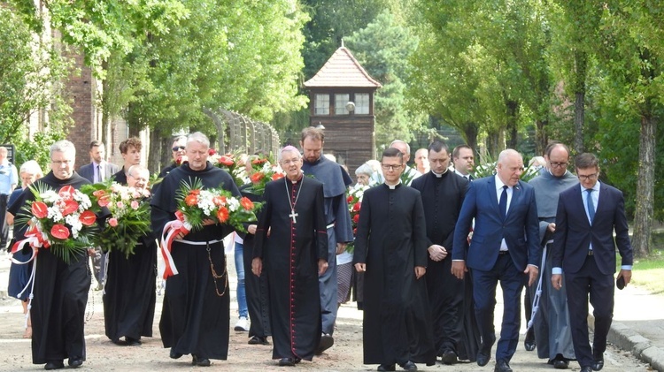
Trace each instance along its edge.
<instances>
[{"instance_id":1,"label":"black cassock with red piping and buttons, below bishop's head","mask_svg":"<svg viewBox=\"0 0 664 372\"><path fill-rule=\"evenodd\" d=\"M320 342L318 260L328 257L323 184L282 178L269 182L263 196L253 255L263 259L270 285L272 357L311 361Z\"/></svg>"}]
</instances>

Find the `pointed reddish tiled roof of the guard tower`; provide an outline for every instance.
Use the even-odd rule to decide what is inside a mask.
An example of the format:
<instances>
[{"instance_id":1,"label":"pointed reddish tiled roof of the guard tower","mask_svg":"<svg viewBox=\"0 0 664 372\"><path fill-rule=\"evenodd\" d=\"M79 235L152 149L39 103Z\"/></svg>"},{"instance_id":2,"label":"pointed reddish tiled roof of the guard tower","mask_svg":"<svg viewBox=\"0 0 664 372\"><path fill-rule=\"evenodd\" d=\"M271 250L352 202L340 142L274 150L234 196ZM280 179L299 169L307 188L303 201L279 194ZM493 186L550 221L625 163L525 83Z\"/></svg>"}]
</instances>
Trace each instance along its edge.
<instances>
[{"instance_id":1,"label":"pointed reddish tiled roof of the guard tower","mask_svg":"<svg viewBox=\"0 0 664 372\"><path fill-rule=\"evenodd\" d=\"M342 44L305 87L382 87Z\"/></svg>"}]
</instances>

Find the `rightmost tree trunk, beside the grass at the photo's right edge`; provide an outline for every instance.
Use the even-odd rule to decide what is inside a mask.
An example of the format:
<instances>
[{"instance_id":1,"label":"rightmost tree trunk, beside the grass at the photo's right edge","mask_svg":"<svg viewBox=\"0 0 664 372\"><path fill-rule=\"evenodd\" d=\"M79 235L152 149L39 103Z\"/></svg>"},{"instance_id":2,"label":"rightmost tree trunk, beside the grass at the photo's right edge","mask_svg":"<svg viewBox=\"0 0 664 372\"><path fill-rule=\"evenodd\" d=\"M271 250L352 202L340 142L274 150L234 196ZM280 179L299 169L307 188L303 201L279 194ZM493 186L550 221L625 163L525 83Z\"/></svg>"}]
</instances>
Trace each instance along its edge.
<instances>
[{"instance_id":1,"label":"rightmost tree trunk, beside the grass at the photo's right edge","mask_svg":"<svg viewBox=\"0 0 664 372\"><path fill-rule=\"evenodd\" d=\"M637 209L634 213L632 234L632 248L637 257L644 257L650 253L656 135L657 120L650 115L642 117L638 146Z\"/></svg>"}]
</instances>

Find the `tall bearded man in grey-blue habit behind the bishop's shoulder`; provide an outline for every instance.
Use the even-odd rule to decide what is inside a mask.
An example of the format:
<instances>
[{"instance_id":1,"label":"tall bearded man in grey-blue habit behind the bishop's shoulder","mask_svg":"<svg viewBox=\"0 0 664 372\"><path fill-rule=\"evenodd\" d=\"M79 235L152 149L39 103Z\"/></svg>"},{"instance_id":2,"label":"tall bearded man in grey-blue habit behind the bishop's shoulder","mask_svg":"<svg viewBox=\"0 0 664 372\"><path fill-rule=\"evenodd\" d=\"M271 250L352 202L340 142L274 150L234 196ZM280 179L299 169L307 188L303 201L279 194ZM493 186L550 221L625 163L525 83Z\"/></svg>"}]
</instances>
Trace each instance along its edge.
<instances>
[{"instance_id":1,"label":"tall bearded man in grey-blue habit behind the bishop's shoulder","mask_svg":"<svg viewBox=\"0 0 664 372\"><path fill-rule=\"evenodd\" d=\"M300 146L304 152L305 163L302 171L305 176L313 176L323 183L325 194L325 222L328 226L328 270L319 277L320 310L322 312L322 335L317 353L322 353L334 344L332 334L336 322L336 254L344 253L346 244L353 240L351 214L348 212L346 188L352 184L352 178L341 165L323 156L325 134L322 130L310 126L302 131Z\"/></svg>"}]
</instances>

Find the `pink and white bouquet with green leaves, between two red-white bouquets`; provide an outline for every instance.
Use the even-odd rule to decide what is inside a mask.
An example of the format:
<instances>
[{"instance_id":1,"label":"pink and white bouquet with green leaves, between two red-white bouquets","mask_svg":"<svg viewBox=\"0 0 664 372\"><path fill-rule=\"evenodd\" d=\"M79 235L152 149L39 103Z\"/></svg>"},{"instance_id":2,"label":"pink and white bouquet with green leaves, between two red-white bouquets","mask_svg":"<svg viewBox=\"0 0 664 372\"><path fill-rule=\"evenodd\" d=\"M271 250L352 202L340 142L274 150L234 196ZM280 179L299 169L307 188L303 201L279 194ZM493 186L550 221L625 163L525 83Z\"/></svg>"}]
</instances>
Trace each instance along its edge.
<instances>
[{"instance_id":1,"label":"pink and white bouquet with green leaves, between two red-white bouquets","mask_svg":"<svg viewBox=\"0 0 664 372\"><path fill-rule=\"evenodd\" d=\"M126 257L134 254L139 239L151 232L150 191L116 182L83 187L93 189L97 206L108 208L112 215L97 236L97 245L104 251L119 250Z\"/></svg>"}]
</instances>

